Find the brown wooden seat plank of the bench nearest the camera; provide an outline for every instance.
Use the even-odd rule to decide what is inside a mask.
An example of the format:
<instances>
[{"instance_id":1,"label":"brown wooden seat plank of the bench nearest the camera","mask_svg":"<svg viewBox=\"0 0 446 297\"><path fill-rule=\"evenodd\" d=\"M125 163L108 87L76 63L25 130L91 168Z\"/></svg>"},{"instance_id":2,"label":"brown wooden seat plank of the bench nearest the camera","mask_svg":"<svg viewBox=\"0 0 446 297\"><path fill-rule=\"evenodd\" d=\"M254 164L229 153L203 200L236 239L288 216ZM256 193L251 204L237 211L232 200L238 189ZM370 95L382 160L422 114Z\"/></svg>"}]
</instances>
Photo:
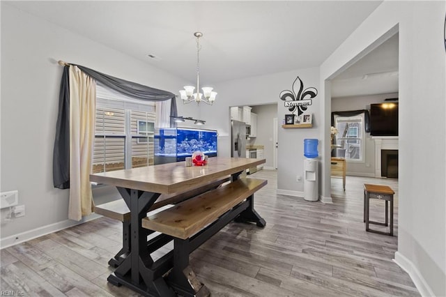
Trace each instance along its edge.
<instances>
[{"instance_id":1,"label":"brown wooden seat plank of the bench nearest the camera","mask_svg":"<svg viewBox=\"0 0 446 297\"><path fill-rule=\"evenodd\" d=\"M190 238L253 195L266 183L266 180L240 178L233 183L150 215L142 220L142 227L176 238Z\"/></svg>"}]
</instances>

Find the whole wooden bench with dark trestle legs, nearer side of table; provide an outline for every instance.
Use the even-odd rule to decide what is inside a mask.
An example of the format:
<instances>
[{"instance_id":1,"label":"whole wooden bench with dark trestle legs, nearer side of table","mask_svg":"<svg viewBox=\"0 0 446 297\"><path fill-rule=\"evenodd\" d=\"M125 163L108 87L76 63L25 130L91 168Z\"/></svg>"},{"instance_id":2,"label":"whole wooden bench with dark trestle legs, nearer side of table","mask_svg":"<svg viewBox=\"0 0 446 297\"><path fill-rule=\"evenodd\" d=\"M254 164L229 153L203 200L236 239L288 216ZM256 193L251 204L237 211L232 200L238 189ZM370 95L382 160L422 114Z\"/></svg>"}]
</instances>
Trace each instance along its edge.
<instances>
[{"instance_id":1,"label":"whole wooden bench with dark trestle legs, nearer side of table","mask_svg":"<svg viewBox=\"0 0 446 297\"><path fill-rule=\"evenodd\" d=\"M142 219L142 227L174 237L174 268L167 282L183 296L207 296L189 267L189 255L234 218L265 221L254 211L254 192L268 181L240 178Z\"/></svg>"}]
</instances>

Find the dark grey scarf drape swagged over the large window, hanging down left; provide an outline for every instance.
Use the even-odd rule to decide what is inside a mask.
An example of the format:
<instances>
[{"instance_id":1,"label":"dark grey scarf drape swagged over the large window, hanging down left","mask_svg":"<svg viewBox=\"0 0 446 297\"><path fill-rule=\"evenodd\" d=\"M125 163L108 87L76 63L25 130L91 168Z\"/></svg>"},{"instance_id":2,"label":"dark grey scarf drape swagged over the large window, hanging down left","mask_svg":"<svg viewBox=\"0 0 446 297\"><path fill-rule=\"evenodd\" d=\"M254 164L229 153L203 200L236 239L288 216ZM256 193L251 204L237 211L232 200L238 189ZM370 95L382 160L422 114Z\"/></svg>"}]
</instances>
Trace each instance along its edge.
<instances>
[{"instance_id":1,"label":"dark grey scarf drape swagged over the large window, hanging down left","mask_svg":"<svg viewBox=\"0 0 446 297\"><path fill-rule=\"evenodd\" d=\"M178 116L176 109L176 96L169 91L151 88L137 84L136 82L129 82L128 80L113 77L100 73L96 70L86 68L84 66L70 64L77 66L82 72L86 73L97 82L105 86L123 93L126 96L137 98L140 100L148 100L160 102L164 100L171 100L170 106L170 125L176 127L174 117ZM63 74L61 79L61 89L59 92L59 115L56 123L56 139L54 140L53 151L53 183L54 188L68 189L70 188L70 66L63 67Z\"/></svg>"}]
</instances>

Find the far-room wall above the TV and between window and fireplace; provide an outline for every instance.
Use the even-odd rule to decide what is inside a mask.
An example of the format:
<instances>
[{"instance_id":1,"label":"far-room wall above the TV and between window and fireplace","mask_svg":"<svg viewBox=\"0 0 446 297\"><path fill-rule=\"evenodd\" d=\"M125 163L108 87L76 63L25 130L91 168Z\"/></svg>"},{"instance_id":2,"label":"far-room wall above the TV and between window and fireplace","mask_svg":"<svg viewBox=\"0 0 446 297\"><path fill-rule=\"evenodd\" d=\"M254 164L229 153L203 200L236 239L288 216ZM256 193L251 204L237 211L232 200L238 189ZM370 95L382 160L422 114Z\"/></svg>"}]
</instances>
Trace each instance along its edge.
<instances>
[{"instance_id":1,"label":"far-room wall above the TV and between window and fireplace","mask_svg":"<svg viewBox=\"0 0 446 297\"><path fill-rule=\"evenodd\" d=\"M384 102L386 98L398 98L398 93L332 98L332 112L370 109L371 104ZM375 176L375 142L370 133L365 134L364 162L347 161L347 175Z\"/></svg>"}]
</instances>

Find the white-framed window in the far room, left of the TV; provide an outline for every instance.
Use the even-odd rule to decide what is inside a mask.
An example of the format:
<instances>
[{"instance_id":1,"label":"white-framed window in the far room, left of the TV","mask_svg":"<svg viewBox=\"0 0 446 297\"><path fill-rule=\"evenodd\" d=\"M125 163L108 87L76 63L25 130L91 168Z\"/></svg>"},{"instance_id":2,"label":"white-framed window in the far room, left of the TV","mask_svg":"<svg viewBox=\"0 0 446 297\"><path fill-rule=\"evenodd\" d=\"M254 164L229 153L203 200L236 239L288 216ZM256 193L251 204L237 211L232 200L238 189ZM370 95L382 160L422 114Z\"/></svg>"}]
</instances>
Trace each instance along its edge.
<instances>
[{"instance_id":1,"label":"white-framed window in the far room, left of the TV","mask_svg":"<svg viewBox=\"0 0 446 297\"><path fill-rule=\"evenodd\" d=\"M349 161L363 161L364 114L357 116L335 116L337 157Z\"/></svg>"}]
</instances>

